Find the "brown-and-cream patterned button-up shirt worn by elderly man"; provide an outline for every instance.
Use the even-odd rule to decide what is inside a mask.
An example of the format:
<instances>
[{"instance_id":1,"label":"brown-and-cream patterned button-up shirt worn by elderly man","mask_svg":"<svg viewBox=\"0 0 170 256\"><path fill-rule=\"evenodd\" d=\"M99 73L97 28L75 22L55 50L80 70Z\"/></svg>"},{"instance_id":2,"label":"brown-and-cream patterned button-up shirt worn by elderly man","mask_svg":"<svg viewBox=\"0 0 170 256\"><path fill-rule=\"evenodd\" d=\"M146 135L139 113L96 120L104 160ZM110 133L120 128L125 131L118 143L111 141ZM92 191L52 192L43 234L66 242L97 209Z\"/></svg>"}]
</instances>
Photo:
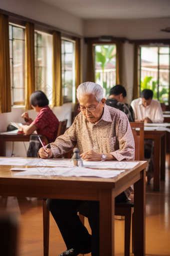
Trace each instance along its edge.
<instances>
[{"instance_id":1,"label":"brown-and-cream patterned button-up shirt worn by elderly man","mask_svg":"<svg viewBox=\"0 0 170 256\"><path fill-rule=\"evenodd\" d=\"M104 105L101 119L89 122L80 112L66 132L50 143L53 157L62 155L77 145L79 154L93 148L96 153L109 153L118 161L134 160L134 139L127 116L118 109ZM124 191L128 198L133 190Z\"/></svg>"}]
</instances>

